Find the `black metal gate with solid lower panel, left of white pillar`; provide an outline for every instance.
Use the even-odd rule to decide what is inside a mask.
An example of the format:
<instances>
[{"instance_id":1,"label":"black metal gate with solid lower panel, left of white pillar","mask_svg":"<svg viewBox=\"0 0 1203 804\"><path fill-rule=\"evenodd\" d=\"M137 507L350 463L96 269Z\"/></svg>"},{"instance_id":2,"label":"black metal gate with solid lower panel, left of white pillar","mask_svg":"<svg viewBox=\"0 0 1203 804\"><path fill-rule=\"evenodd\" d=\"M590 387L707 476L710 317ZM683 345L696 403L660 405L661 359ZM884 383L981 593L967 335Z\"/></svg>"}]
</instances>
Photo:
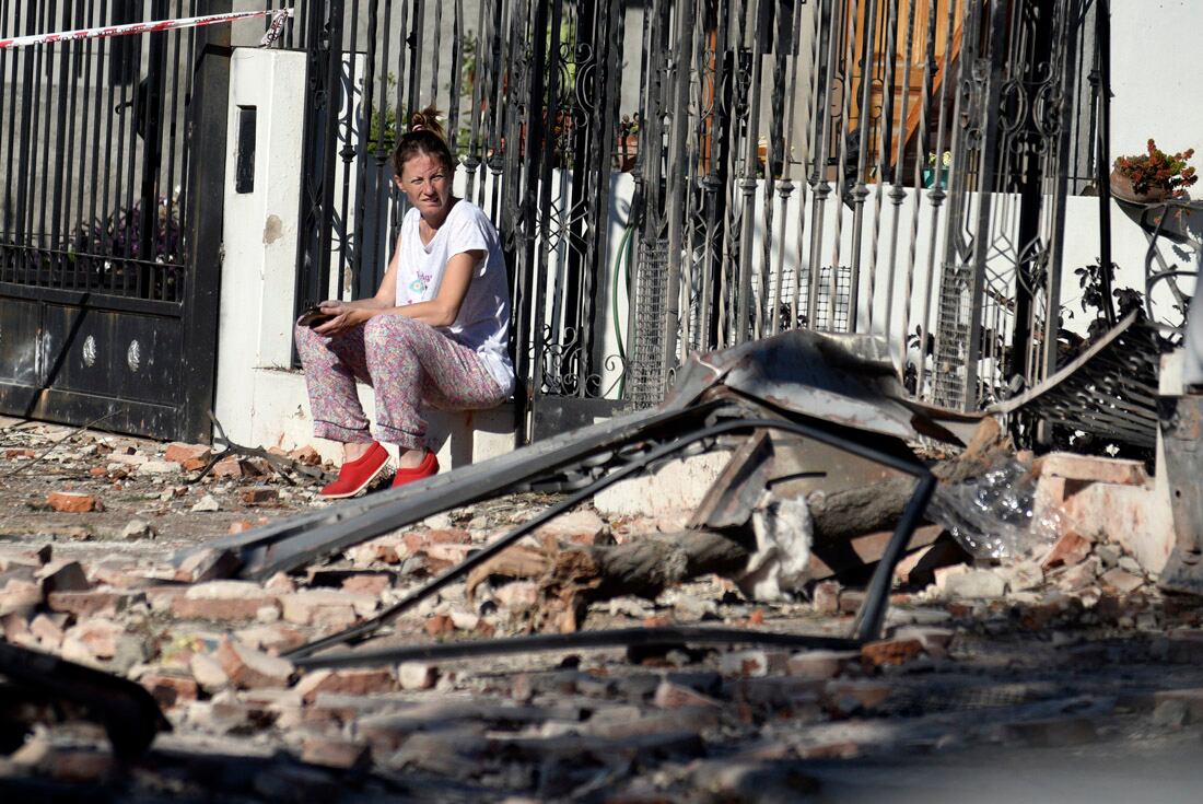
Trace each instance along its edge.
<instances>
[{"instance_id":1,"label":"black metal gate with solid lower panel, left of white pillar","mask_svg":"<svg viewBox=\"0 0 1203 804\"><path fill-rule=\"evenodd\" d=\"M229 7L0 0L0 37ZM0 52L0 412L208 439L224 28Z\"/></svg>"}]
</instances>

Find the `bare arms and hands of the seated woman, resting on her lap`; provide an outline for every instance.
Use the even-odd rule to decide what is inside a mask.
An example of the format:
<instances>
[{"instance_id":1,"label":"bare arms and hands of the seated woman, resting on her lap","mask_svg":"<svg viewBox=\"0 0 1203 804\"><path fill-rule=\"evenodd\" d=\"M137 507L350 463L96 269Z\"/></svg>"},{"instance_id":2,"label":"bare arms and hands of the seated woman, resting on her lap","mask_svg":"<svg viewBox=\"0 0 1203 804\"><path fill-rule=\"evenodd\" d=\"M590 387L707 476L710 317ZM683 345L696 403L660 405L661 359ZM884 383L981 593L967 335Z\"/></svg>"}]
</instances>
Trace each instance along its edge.
<instances>
[{"instance_id":1,"label":"bare arms and hands of the seated woman, resting on her lap","mask_svg":"<svg viewBox=\"0 0 1203 804\"><path fill-rule=\"evenodd\" d=\"M431 326L450 326L460 315L460 307L468 295L468 286L472 285L472 277L485 259L482 249L461 252L448 260L443 270L443 280L439 284L439 292L431 301L417 302L416 305L403 305L393 307L387 303L386 297L381 297L387 285L397 286L397 256L393 255L389 270L380 283L380 290L375 297L362 300L361 302L322 302L324 312L334 314L330 321L314 327L319 335L338 335L343 330L366 324L375 315L404 315L415 321L422 321ZM367 302L367 303L365 303ZM328 305L328 307L327 307Z\"/></svg>"}]
</instances>

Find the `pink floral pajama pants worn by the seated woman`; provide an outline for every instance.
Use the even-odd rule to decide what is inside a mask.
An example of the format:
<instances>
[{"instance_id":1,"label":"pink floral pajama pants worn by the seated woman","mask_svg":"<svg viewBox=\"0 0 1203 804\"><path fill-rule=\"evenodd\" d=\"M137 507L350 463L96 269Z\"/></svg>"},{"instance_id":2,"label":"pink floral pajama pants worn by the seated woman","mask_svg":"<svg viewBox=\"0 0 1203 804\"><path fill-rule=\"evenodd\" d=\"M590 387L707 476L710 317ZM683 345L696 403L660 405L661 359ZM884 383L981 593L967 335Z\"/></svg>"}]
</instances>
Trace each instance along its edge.
<instances>
[{"instance_id":1,"label":"pink floral pajama pants worn by the seated woman","mask_svg":"<svg viewBox=\"0 0 1203 804\"><path fill-rule=\"evenodd\" d=\"M426 447L422 406L442 410L492 408L505 401L502 388L476 353L404 315L377 315L367 324L327 337L295 327L304 366L313 432L337 442L377 441L402 449ZM371 433L355 380L375 391Z\"/></svg>"}]
</instances>

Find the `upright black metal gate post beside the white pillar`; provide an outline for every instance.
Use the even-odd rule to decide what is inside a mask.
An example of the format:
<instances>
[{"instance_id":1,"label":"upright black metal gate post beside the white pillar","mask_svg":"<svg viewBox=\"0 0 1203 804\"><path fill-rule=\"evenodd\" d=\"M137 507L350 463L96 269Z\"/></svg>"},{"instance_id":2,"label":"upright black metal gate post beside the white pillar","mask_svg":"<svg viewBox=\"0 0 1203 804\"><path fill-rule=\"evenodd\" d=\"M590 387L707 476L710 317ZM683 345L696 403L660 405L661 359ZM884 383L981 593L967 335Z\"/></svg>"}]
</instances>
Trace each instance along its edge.
<instances>
[{"instance_id":1,"label":"upright black metal gate post beside the white pillar","mask_svg":"<svg viewBox=\"0 0 1203 804\"><path fill-rule=\"evenodd\" d=\"M229 12L231 0L213 0L211 13ZM208 442L208 410L213 407L218 345L218 303L221 283L221 225L225 201L226 120L230 101L230 26L196 31L196 78L189 153L189 193L184 244L189 273L183 289L183 366L188 382L180 406L179 438Z\"/></svg>"}]
</instances>

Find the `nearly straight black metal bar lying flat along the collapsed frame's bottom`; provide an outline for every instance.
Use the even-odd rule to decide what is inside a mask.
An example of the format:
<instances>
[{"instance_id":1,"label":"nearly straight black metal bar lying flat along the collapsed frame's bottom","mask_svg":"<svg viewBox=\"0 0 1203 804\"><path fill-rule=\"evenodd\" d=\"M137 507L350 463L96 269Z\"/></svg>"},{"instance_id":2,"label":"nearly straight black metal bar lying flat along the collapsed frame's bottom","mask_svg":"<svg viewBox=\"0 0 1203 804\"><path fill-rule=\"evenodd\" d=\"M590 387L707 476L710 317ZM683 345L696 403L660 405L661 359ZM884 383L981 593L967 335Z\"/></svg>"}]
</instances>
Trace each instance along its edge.
<instances>
[{"instance_id":1,"label":"nearly straight black metal bar lying flat along the collapsed frame's bottom","mask_svg":"<svg viewBox=\"0 0 1203 804\"><path fill-rule=\"evenodd\" d=\"M860 640L810 634L784 634L771 631L707 628L705 626L664 626L656 628L614 628L579 631L568 634L535 634L500 639L431 645L404 645L379 650L356 650L326 656L294 660L303 668L383 667L410 661L451 661L478 656L534 654L549 650L587 650L597 648L636 648L657 645L772 645L806 650L859 650Z\"/></svg>"}]
</instances>

